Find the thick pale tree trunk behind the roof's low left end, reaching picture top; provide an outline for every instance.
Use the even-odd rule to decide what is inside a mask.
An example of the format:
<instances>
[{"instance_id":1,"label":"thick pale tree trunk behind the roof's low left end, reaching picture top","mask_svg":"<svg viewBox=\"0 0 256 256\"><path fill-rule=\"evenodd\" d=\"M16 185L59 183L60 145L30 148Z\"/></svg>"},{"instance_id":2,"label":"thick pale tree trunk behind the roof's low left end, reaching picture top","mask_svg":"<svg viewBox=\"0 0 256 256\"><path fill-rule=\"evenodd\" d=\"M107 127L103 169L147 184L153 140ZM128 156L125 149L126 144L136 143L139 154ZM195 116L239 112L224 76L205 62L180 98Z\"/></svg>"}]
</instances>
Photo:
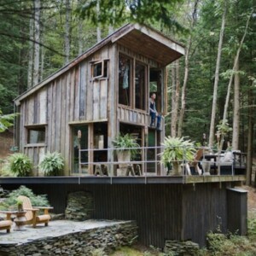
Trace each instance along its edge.
<instances>
[{"instance_id":1,"label":"thick pale tree trunk behind the roof's low left end, reaching picture top","mask_svg":"<svg viewBox=\"0 0 256 256\"><path fill-rule=\"evenodd\" d=\"M39 59L40 59L40 0L34 1L35 21L34 21L34 68L33 68L33 85L39 81Z\"/></svg>"}]
</instances>

